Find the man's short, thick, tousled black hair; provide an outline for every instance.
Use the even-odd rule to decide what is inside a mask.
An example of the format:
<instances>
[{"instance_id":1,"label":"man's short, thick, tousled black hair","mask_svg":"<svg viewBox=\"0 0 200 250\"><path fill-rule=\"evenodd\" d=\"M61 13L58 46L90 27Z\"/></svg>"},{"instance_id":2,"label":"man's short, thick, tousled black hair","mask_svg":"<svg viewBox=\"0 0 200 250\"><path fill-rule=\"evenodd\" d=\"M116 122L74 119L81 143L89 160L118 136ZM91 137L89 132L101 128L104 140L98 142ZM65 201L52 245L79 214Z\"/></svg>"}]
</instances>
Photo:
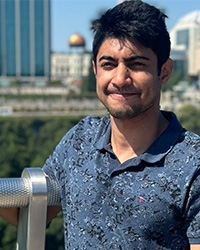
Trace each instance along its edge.
<instances>
[{"instance_id":1,"label":"man's short, thick, tousled black hair","mask_svg":"<svg viewBox=\"0 0 200 250\"><path fill-rule=\"evenodd\" d=\"M158 58L158 72L170 54L170 38L166 28L167 16L156 7L140 0L129 0L109 9L92 22L94 31L93 59L107 38L120 41L135 40L150 48Z\"/></svg>"}]
</instances>

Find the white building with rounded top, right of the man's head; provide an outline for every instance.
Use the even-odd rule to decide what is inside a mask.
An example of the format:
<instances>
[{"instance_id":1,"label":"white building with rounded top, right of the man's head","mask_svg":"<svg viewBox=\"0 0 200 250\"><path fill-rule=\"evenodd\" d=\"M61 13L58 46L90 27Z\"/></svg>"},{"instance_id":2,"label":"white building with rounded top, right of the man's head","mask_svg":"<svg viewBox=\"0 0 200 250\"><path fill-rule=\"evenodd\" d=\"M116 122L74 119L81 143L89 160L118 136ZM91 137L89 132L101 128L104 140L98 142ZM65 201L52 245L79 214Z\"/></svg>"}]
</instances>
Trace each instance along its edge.
<instances>
[{"instance_id":1,"label":"white building with rounded top, right of the man's head","mask_svg":"<svg viewBox=\"0 0 200 250\"><path fill-rule=\"evenodd\" d=\"M182 17L170 31L171 57L186 75L200 79L200 11Z\"/></svg>"}]
</instances>

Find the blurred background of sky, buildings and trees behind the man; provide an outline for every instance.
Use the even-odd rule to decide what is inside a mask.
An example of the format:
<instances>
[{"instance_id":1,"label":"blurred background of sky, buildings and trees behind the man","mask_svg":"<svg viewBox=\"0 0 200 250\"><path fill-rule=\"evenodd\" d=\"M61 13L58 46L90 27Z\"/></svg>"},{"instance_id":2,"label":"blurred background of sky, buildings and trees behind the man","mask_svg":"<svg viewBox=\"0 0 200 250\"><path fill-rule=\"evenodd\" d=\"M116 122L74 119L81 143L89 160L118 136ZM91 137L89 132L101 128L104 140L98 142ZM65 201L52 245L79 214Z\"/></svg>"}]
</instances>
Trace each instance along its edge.
<instances>
[{"instance_id":1,"label":"blurred background of sky, buildings and trees behind the man","mask_svg":"<svg viewBox=\"0 0 200 250\"><path fill-rule=\"evenodd\" d=\"M91 67L91 21L122 1L0 0L0 177L42 167L62 136L86 115L105 115ZM174 71L161 108L200 135L198 0L146 0L162 9ZM16 228L0 219L0 250L15 249ZM46 249L64 249L62 213Z\"/></svg>"}]
</instances>

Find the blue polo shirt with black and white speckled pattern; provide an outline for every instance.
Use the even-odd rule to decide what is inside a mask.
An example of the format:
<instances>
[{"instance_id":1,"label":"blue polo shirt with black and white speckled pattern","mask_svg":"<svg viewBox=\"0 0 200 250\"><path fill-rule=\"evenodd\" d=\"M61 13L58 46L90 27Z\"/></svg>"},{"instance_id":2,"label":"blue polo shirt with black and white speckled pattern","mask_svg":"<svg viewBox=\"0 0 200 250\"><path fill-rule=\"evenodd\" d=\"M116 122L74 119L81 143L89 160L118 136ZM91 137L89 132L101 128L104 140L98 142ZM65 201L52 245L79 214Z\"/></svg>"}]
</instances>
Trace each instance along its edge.
<instances>
[{"instance_id":1,"label":"blue polo shirt with black and white speckled pattern","mask_svg":"<svg viewBox=\"0 0 200 250\"><path fill-rule=\"evenodd\" d=\"M200 244L200 137L176 116L138 157L120 164L109 117L87 117L44 171L61 188L65 249L189 249Z\"/></svg>"}]
</instances>

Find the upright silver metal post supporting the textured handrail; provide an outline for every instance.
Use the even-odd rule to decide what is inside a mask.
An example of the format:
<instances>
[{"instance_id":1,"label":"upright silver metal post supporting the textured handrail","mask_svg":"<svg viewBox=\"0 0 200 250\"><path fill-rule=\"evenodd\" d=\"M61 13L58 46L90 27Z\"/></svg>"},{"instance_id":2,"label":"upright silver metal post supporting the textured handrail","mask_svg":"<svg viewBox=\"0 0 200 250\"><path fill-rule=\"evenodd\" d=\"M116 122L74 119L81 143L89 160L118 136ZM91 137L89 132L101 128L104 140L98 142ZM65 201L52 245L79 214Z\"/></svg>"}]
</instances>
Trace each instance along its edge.
<instances>
[{"instance_id":1,"label":"upright silver metal post supporting the textured handrail","mask_svg":"<svg viewBox=\"0 0 200 250\"><path fill-rule=\"evenodd\" d=\"M47 213L47 183L42 169L26 168L22 178L29 183L28 206L20 208L17 250L44 250Z\"/></svg>"}]
</instances>

